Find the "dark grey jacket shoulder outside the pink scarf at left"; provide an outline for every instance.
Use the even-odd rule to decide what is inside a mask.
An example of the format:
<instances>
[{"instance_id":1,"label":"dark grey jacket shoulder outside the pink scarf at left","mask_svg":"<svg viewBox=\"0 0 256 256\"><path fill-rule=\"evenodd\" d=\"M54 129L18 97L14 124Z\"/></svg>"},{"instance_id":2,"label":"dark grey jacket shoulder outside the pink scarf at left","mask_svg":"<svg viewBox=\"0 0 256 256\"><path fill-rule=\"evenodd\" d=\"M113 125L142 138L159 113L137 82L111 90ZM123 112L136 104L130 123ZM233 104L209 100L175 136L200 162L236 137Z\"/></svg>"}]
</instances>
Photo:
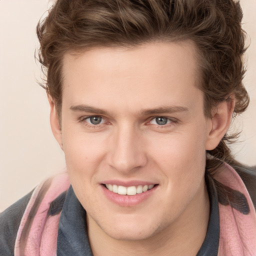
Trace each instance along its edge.
<instances>
[{"instance_id":1,"label":"dark grey jacket shoulder outside the pink scarf at left","mask_svg":"<svg viewBox=\"0 0 256 256\"><path fill-rule=\"evenodd\" d=\"M0 213L0 255L13 255L18 227L32 192Z\"/></svg>"}]
</instances>

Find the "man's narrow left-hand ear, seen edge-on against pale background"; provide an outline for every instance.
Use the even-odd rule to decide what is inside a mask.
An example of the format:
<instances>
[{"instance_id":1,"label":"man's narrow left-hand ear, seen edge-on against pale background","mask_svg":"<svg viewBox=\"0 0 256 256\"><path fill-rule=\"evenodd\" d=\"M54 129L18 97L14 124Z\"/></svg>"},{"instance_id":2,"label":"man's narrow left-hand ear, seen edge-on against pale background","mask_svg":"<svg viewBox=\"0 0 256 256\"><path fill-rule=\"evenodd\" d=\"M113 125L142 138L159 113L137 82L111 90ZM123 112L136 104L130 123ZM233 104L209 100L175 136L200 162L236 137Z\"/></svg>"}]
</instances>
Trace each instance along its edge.
<instances>
[{"instance_id":1,"label":"man's narrow left-hand ear, seen edge-on against pale background","mask_svg":"<svg viewBox=\"0 0 256 256\"><path fill-rule=\"evenodd\" d=\"M55 107L55 103L53 102L52 98L48 96L48 101L50 104L50 127L51 131L57 140L58 144L60 145L61 149L63 150L62 145L62 133L61 133L61 127L59 124L59 118L57 114L57 110Z\"/></svg>"}]
</instances>

